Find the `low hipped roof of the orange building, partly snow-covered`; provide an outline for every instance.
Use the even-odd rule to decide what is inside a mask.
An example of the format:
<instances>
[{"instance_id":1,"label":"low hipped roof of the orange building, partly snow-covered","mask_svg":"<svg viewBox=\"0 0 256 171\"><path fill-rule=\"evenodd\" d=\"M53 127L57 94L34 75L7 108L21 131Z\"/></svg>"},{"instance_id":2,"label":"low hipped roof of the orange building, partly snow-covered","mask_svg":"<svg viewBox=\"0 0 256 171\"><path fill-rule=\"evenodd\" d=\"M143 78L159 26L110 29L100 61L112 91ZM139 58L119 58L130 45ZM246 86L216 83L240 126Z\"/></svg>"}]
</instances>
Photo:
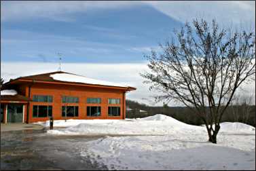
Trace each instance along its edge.
<instances>
[{"instance_id":1,"label":"low hipped roof of the orange building, partly snow-covered","mask_svg":"<svg viewBox=\"0 0 256 171\"><path fill-rule=\"evenodd\" d=\"M46 82L54 82L54 83L77 83L80 85L94 85L94 86L107 86L107 87L113 87L113 88L122 88L125 90L136 90L136 88L132 88L130 86L124 86L120 83L113 83L109 81L102 81L98 79L92 79L89 77L85 77L82 75L77 75L73 73L67 73L63 71L56 71L52 73L43 73L39 75L29 75L26 77L18 77L16 79L10 79L7 83L3 84L3 86L7 86L11 83L14 83L15 81L34 81L34 82L40 82L40 81L46 81Z\"/></svg>"}]
</instances>

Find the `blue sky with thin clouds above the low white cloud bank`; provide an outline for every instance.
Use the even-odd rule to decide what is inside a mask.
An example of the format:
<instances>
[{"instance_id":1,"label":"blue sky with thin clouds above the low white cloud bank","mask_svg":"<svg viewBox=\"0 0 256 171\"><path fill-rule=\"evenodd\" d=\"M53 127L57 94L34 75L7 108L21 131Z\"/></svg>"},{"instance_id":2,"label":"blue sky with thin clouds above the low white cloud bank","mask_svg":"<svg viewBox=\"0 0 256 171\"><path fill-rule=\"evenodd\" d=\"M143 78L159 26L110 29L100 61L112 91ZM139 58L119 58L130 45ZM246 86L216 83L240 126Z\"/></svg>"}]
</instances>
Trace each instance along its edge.
<instances>
[{"instance_id":1,"label":"blue sky with thin clouds above the low white cloud bank","mask_svg":"<svg viewBox=\"0 0 256 171\"><path fill-rule=\"evenodd\" d=\"M255 2L1 1L1 61L143 62L184 22L255 25Z\"/></svg>"}]
</instances>

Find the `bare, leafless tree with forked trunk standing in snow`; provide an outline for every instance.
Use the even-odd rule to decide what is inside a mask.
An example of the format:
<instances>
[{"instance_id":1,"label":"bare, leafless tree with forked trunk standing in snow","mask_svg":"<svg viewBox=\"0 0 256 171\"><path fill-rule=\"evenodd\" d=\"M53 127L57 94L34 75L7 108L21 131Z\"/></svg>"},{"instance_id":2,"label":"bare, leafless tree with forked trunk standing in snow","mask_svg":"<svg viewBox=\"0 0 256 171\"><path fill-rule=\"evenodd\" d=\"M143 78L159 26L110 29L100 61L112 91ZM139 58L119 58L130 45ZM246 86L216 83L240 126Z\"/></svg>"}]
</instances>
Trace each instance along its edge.
<instances>
[{"instance_id":1,"label":"bare, leafless tree with forked trunk standing in snow","mask_svg":"<svg viewBox=\"0 0 256 171\"><path fill-rule=\"evenodd\" d=\"M175 32L176 39L145 56L150 72L141 73L162 94L156 101L175 100L205 123L208 140L217 143L224 111L243 82L255 80L255 34L219 29L213 20L194 20Z\"/></svg>"}]
</instances>

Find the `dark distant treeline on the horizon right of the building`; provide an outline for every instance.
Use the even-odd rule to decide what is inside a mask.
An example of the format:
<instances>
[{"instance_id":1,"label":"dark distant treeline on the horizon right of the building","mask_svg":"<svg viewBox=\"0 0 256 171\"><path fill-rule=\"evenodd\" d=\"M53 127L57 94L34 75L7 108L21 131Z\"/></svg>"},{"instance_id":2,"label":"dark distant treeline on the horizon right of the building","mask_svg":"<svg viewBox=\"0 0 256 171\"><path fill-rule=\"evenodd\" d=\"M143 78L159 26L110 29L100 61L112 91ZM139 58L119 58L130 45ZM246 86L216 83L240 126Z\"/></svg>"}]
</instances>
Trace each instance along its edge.
<instances>
[{"instance_id":1,"label":"dark distant treeline on the horizon right of the building","mask_svg":"<svg viewBox=\"0 0 256 171\"><path fill-rule=\"evenodd\" d=\"M167 105L164 105L163 107L150 107L146 104L140 104L139 102L132 100L126 100L126 106L132 109L126 111L127 118L164 114L191 125L199 126L203 124L198 116L187 107L168 107ZM147 112L142 113L140 110ZM238 121L255 127L255 105L242 104L239 106L228 107L221 122L224 121Z\"/></svg>"}]
</instances>

